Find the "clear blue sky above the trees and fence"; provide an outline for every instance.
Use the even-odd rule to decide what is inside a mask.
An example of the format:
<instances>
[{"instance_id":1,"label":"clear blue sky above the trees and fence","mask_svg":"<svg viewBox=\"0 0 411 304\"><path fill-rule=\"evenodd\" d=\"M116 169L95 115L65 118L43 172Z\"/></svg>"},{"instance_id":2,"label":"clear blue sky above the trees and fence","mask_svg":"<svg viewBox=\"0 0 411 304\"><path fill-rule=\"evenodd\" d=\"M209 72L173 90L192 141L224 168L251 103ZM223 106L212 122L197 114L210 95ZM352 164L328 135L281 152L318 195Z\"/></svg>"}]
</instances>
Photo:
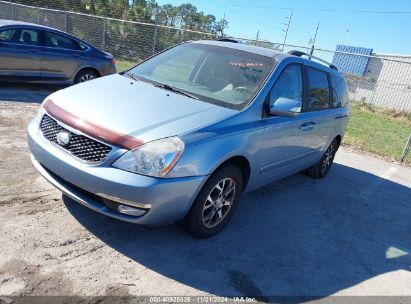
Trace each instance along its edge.
<instances>
[{"instance_id":1,"label":"clear blue sky above the trees and fence","mask_svg":"<svg viewBox=\"0 0 411 304\"><path fill-rule=\"evenodd\" d=\"M191 3L217 19L226 18L233 37L283 42L291 9L287 43L335 50L337 44L371 48L377 54L411 55L410 0L157 0ZM385 13L389 12L389 13Z\"/></svg>"}]
</instances>

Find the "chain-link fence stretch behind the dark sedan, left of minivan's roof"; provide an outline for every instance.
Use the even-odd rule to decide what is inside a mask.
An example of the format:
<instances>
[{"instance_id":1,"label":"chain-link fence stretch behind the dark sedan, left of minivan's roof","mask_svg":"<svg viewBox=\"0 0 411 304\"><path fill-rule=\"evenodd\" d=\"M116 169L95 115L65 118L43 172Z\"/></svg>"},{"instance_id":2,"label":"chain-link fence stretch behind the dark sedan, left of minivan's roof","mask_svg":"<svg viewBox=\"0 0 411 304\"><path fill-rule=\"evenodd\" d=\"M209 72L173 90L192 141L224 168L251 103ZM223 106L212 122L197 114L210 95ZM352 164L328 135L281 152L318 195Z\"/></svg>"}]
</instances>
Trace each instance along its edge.
<instances>
[{"instance_id":1,"label":"chain-link fence stretch behind the dark sedan, left of minivan's roof","mask_svg":"<svg viewBox=\"0 0 411 304\"><path fill-rule=\"evenodd\" d=\"M141 61L183 41L216 39L209 33L0 1L0 19L53 27L113 54Z\"/></svg>"}]
</instances>

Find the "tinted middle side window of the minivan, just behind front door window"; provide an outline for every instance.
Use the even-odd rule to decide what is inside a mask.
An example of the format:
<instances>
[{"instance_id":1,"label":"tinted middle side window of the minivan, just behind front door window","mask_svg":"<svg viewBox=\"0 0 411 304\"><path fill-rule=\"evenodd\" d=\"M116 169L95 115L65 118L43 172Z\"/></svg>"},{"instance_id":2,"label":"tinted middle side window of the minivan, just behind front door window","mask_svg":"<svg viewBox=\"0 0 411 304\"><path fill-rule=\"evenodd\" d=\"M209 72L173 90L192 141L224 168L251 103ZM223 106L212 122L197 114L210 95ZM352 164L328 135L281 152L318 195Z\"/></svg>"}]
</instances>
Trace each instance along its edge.
<instances>
[{"instance_id":1,"label":"tinted middle side window of the minivan, just behind front door window","mask_svg":"<svg viewBox=\"0 0 411 304\"><path fill-rule=\"evenodd\" d=\"M308 104L307 111L328 109L330 107L330 91L327 73L307 68L308 72Z\"/></svg>"}]
</instances>

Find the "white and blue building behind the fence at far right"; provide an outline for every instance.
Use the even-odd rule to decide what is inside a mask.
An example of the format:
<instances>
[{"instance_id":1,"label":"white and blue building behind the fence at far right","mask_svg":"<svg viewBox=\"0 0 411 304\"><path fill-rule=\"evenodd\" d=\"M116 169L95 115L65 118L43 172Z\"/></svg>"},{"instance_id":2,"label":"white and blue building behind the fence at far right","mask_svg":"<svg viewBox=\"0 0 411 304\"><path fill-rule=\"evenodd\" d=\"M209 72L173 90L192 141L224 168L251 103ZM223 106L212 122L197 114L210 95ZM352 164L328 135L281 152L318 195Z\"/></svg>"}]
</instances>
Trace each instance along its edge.
<instances>
[{"instance_id":1,"label":"white and blue building behind the fence at far right","mask_svg":"<svg viewBox=\"0 0 411 304\"><path fill-rule=\"evenodd\" d=\"M411 56L338 45L333 64L346 75L351 100L411 111Z\"/></svg>"}]
</instances>

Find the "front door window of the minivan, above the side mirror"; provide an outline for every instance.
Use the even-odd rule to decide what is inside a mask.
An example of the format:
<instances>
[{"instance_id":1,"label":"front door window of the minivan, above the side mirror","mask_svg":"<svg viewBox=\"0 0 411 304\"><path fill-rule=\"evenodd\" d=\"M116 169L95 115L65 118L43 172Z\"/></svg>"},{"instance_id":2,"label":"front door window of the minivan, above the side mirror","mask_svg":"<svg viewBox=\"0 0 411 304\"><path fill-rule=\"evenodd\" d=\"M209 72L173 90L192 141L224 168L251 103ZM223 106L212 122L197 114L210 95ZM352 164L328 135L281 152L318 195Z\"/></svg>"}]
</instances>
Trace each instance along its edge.
<instances>
[{"instance_id":1,"label":"front door window of the minivan, above the side mirror","mask_svg":"<svg viewBox=\"0 0 411 304\"><path fill-rule=\"evenodd\" d=\"M270 91L270 105L278 99L286 98L303 102L303 78L301 66L288 66L280 75L274 87Z\"/></svg>"}]
</instances>

